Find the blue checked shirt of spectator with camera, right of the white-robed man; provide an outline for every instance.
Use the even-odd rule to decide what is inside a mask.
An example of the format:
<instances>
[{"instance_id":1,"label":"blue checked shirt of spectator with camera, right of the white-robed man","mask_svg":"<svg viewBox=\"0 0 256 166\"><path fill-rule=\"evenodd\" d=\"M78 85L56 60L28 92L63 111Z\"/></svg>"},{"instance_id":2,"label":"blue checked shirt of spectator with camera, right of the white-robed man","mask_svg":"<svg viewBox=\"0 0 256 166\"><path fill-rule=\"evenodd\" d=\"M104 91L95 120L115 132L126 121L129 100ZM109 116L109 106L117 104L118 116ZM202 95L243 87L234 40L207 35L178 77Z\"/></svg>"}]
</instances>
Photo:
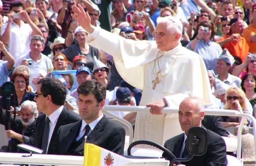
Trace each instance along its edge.
<instances>
[{"instance_id":1,"label":"blue checked shirt of spectator with camera, right of the white-robed man","mask_svg":"<svg viewBox=\"0 0 256 166\"><path fill-rule=\"evenodd\" d=\"M191 42L186 46L186 48L192 50L190 45ZM203 58L207 70L212 69L216 73L216 63L218 61L218 57L222 53L221 46L218 43L215 43L212 40L205 42L200 39L195 46L195 50L192 51L198 53Z\"/></svg>"}]
</instances>

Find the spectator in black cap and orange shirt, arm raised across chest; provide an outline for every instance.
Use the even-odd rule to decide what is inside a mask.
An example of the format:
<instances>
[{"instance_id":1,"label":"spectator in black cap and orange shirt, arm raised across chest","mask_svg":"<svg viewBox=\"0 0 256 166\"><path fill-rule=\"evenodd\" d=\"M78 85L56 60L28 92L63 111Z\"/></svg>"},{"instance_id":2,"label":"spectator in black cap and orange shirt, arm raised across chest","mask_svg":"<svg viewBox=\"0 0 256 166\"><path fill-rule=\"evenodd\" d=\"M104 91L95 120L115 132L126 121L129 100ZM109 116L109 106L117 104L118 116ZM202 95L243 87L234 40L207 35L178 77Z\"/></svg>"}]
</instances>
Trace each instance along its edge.
<instances>
[{"instance_id":1,"label":"spectator in black cap and orange shirt, arm raised across chest","mask_svg":"<svg viewBox=\"0 0 256 166\"><path fill-rule=\"evenodd\" d=\"M241 37L244 31L244 21L236 17L230 20L229 26L230 33L220 37L217 43L221 45L222 49L228 49L230 54L240 57L244 62L249 52L247 41Z\"/></svg>"}]
</instances>

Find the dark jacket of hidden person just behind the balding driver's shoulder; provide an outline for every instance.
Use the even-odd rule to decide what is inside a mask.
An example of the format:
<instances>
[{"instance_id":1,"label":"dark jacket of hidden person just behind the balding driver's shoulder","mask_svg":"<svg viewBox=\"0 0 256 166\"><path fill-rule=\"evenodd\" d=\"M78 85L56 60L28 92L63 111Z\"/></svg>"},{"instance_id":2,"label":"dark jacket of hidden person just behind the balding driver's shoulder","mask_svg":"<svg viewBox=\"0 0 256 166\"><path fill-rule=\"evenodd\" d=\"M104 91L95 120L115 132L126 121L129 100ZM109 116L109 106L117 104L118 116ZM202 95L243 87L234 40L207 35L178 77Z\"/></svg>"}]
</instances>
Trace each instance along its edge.
<instances>
[{"instance_id":1,"label":"dark jacket of hidden person just behind the balding driver's shoulder","mask_svg":"<svg viewBox=\"0 0 256 166\"><path fill-rule=\"evenodd\" d=\"M204 115L204 119L202 120L202 125L212 132L220 136L227 137L229 133L227 130L221 125L221 120L219 116L213 115Z\"/></svg>"}]
</instances>

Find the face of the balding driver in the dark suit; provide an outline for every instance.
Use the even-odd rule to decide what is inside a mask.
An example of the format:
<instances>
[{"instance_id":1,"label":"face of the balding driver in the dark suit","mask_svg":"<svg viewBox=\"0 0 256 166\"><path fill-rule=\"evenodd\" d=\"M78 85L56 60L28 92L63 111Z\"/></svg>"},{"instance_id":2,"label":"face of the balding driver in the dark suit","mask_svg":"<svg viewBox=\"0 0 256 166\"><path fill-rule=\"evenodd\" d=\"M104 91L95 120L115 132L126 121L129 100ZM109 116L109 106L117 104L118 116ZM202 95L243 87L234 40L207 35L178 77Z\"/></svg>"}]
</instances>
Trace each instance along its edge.
<instances>
[{"instance_id":1,"label":"face of the balding driver in the dark suit","mask_svg":"<svg viewBox=\"0 0 256 166\"><path fill-rule=\"evenodd\" d=\"M187 134L193 126L201 127L204 112L200 112L196 100L183 100L179 107L179 122L181 129Z\"/></svg>"}]
</instances>

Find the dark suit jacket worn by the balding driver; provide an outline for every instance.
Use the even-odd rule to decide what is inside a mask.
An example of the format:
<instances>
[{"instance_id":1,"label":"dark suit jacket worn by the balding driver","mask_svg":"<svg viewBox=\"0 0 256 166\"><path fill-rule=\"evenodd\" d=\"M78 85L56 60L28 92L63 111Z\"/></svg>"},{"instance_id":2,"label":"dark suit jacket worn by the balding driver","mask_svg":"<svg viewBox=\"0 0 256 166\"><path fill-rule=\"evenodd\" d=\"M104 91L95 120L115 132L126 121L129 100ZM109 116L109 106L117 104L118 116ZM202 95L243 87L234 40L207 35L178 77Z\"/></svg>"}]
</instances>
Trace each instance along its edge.
<instances>
[{"instance_id":1,"label":"dark suit jacket worn by the balding driver","mask_svg":"<svg viewBox=\"0 0 256 166\"><path fill-rule=\"evenodd\" d=\"M227 166L226 144L223 138L208 129L207 137L207 152L202 156L194 156L190 161L181 162L181 164L186 166ZM164 147L178 158L183 146L183 141L184 133L166 140ZM183 158L188 158L189 156L190 154L185 147ZM172 160L172 157L167 156L165 152L163 152L163 157L166 157L170 161Z\"/></svg>"}]
</instances>

